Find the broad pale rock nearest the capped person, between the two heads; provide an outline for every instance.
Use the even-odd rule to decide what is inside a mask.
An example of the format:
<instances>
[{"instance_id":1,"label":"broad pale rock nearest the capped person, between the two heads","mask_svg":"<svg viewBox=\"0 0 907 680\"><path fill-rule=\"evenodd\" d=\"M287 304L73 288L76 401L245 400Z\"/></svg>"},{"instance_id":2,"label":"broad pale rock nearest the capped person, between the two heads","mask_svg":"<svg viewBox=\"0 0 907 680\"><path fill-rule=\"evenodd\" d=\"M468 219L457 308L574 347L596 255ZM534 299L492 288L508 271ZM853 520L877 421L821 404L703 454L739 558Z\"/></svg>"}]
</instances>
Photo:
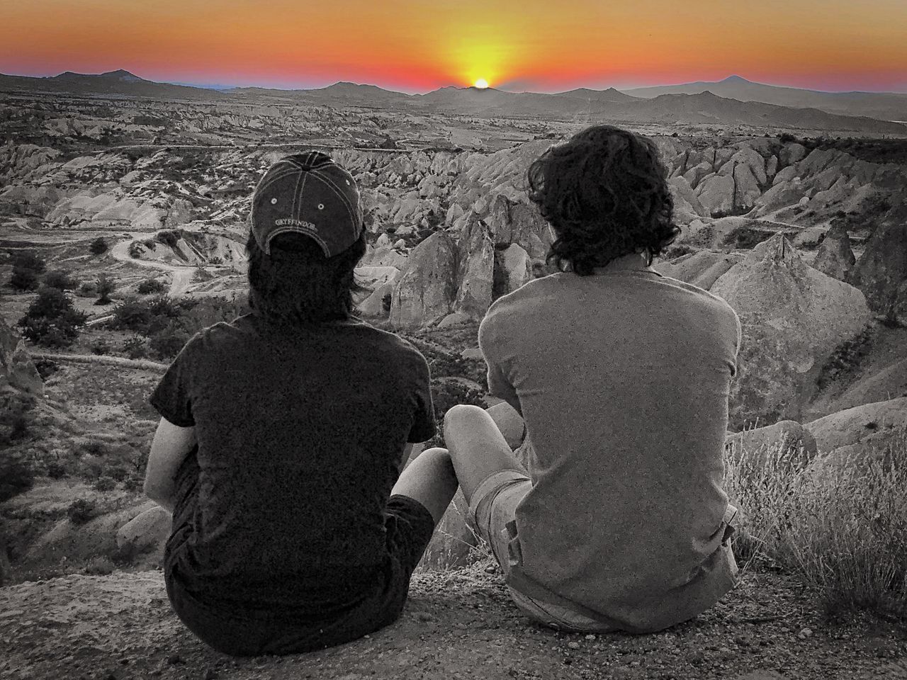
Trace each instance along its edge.
<instances>
[{"instance_id":1,"label":"broad pale rock nearest the capped person, between the two heads","mask_svg":"<svg viewBox=\"0 0 907 680\"><path fill-rule=\"evenodd\" d=\"M456 246L445 231L436 231L410 251L391 299L391 325L415 329L443 319L451 311L455 281Z\"/></svg>"}]
</instances>

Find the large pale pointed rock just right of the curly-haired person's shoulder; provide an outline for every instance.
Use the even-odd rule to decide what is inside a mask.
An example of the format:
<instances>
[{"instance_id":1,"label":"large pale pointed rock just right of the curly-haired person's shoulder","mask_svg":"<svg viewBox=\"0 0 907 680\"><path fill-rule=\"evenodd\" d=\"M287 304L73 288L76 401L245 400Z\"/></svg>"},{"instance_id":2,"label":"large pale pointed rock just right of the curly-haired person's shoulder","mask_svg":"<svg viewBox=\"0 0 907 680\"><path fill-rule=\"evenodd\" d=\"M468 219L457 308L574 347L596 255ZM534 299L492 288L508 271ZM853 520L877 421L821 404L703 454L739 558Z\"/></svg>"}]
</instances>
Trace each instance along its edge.
<instances>
[{"instance_id":1,"label":"large pale pointed rock just right of the curly-haired person's shoulder","mask_svg":"<svg viewBox=\"0 0 907 680\"><path fill-rule=\"evenodd\" d=\"M711 292L743 326L731 423L799 419L834 349L872 315L863 294L805 264L782 234L760 243Z\"/></svg>"}]
</instances>

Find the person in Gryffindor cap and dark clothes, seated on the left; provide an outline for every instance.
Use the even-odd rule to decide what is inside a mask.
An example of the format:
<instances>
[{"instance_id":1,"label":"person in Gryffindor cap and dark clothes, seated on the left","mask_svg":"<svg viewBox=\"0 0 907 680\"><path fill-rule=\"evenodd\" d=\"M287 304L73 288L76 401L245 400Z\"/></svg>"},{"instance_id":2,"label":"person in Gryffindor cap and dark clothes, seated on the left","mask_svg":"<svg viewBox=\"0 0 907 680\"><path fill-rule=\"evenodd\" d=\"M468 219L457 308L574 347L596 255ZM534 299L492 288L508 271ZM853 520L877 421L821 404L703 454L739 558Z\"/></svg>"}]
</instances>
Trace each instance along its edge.
<instances>
[{"instance_id":1,"label":"person in Gryffindor cap and dark clothes, seated on the left","mask_svg":"<svg viewBox=\"0 0 907 680\"><path fill-rule=\"evenodd\" d=\"M172 512L172 607L227 654L337 645L393 622L457 482L424 357L352 316L356 181L278 160L249 216L251 313L190 338L151 395L145 491ZM402 474L401 474L401 471Z\"/></svg>"}]
</instances>

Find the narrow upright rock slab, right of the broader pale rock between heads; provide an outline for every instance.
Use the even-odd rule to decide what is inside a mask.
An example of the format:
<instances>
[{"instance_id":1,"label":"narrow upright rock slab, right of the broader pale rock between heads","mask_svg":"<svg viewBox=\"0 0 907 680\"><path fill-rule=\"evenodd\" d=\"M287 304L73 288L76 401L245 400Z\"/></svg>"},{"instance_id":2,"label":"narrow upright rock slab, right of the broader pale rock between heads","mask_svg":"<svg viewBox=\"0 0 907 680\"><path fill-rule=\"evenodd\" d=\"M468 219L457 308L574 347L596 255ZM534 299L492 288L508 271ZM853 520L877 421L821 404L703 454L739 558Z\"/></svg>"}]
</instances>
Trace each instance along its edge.
<instances>
[{"instance_id":1,"label":"narrow upright rock slab, right of the broader pale rock between heads","mask_svg":"<svg viewBox=\"0 0 907 680\"><path fill-rule=\"evenodd\" d=\"M481 219L473 219L457 244L457 293L453 310L481 319L492 304L494 245Z\"/></svg>"}]
</instances>

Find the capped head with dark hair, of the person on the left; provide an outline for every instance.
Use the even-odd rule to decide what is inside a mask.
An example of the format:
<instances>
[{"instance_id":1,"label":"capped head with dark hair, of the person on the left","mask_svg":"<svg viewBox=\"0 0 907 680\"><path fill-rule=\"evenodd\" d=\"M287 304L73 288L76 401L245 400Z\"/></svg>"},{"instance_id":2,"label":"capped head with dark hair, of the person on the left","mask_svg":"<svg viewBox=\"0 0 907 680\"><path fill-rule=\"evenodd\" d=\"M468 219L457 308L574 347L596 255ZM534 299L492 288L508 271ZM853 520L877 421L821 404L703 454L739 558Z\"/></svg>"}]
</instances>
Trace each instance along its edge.
<instances>
[{"instance_id":1,"label":"capped head with dark hair, of the person on the left","mask_svg":"<svg viewBox=\"0 0 907 680\"><path fill-rule=\"evenodd\" d=\"M258 182L249 223L249 304L257 314L290 325L352 314L366 231L349 172L318 151L278 160Z\"/></svg>"}]
</instances>

